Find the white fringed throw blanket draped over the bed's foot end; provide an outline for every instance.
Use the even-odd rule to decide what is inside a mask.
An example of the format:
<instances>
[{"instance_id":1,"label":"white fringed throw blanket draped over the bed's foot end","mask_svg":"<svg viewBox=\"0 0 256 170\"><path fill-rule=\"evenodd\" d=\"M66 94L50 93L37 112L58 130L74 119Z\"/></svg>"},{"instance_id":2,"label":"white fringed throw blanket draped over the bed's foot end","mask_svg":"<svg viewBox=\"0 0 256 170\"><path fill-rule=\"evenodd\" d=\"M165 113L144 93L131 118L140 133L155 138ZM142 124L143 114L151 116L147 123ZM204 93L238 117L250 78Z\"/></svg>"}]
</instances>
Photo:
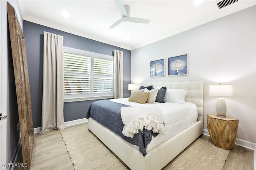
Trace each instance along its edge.
<instances>
[{"instance_id":1,"label":"white fringed throw blanket draped over the bed's foot end","mask_svg":"<svg viewBox=\"0 0 256 170\"><path fill-rule=\"evenodd\" d=\"M144 128L153 133L165 134L164 117L158 107L121 107L121 117L124 123L122 134L126 137L133 137Z\"/></svg>"}]
</instances>

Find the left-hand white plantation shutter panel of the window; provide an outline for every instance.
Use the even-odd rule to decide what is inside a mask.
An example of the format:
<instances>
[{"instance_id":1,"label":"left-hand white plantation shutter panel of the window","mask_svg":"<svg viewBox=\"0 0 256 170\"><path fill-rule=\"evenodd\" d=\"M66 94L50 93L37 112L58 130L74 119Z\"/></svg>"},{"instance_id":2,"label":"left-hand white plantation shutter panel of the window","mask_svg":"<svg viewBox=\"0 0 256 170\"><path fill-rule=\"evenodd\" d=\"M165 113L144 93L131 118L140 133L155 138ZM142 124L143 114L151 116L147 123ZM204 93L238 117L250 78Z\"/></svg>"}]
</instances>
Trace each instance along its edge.
<instances>
[{"instance_id":1,"label":"left-hand white plantation shutter panel of the window","mask_svg":"<svg viewBox=\"0 0 256 170\"><path fill-rule=\"evenodd\" d=\"M64 95L90 94L91 57L64 53Z\"/></svg>"}]
</instances>

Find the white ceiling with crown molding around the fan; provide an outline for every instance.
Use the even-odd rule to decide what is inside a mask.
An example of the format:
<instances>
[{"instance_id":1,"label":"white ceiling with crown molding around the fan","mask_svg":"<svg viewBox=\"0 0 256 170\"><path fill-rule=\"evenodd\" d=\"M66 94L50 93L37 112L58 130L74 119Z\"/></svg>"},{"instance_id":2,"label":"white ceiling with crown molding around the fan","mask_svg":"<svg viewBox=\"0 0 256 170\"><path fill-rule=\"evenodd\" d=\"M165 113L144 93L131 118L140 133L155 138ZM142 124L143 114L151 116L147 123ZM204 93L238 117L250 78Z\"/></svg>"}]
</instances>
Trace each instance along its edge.
<instances>
[{"instance_id":1,"label":"white ceiling with crown molding around the fan","mask_svg":"<svg viewBox=\"0 0 256 170\"><path fill-rule=\"evenodd\" d=\"M239 0L220 10L216 2L196 6L193 0L122 0L130 6L130 16L151 21L122 22L110 29L121 18L114 0L18 0L23 20L128 50L256 5L256 0ZM70 17L62 17L62 11Z\"/></svg>"}]
</instances>

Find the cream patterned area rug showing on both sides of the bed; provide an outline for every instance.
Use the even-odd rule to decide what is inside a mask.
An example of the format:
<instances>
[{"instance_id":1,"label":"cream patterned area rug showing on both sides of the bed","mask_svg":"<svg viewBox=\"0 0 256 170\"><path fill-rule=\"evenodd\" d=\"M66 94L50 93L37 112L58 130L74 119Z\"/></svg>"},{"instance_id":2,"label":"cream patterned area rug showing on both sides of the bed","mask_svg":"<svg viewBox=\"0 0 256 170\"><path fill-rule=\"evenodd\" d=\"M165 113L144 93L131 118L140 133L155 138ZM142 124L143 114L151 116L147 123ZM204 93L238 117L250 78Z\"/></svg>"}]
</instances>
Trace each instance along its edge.
<instances>
[{"instance_id":1,"label":"cream patterned area rug showing on both sides of the bed","mask_svg":"<svg viewBox=\"0 0 256 170\"><path fill-rule=\"evenodd\" d=\"M82 123L60 130L75 170L126 170L122 163ZM222 170L229 150L214 146L211 141L196 139L163 170Z\"/></svg>"}]
</instances>

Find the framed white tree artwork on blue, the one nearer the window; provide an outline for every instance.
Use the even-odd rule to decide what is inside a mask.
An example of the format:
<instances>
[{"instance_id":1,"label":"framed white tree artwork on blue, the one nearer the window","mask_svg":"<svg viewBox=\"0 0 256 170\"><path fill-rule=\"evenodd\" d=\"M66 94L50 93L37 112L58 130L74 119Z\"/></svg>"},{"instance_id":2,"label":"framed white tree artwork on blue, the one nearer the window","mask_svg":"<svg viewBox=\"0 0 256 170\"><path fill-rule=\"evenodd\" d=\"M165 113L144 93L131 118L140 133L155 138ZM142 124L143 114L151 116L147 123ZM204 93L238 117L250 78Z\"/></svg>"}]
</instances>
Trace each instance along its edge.
<instances>
[{"instance_id":1,"label":"framed white tree artwork on blue, the one nearer the window","mask_svg":"<svg viewBox=\"0 0 256 170\"><path fill-rule=\"evenodd\" d=\"M150 77L164 76L164 59L150 62Z\"/></svg>"}]
</instances>

